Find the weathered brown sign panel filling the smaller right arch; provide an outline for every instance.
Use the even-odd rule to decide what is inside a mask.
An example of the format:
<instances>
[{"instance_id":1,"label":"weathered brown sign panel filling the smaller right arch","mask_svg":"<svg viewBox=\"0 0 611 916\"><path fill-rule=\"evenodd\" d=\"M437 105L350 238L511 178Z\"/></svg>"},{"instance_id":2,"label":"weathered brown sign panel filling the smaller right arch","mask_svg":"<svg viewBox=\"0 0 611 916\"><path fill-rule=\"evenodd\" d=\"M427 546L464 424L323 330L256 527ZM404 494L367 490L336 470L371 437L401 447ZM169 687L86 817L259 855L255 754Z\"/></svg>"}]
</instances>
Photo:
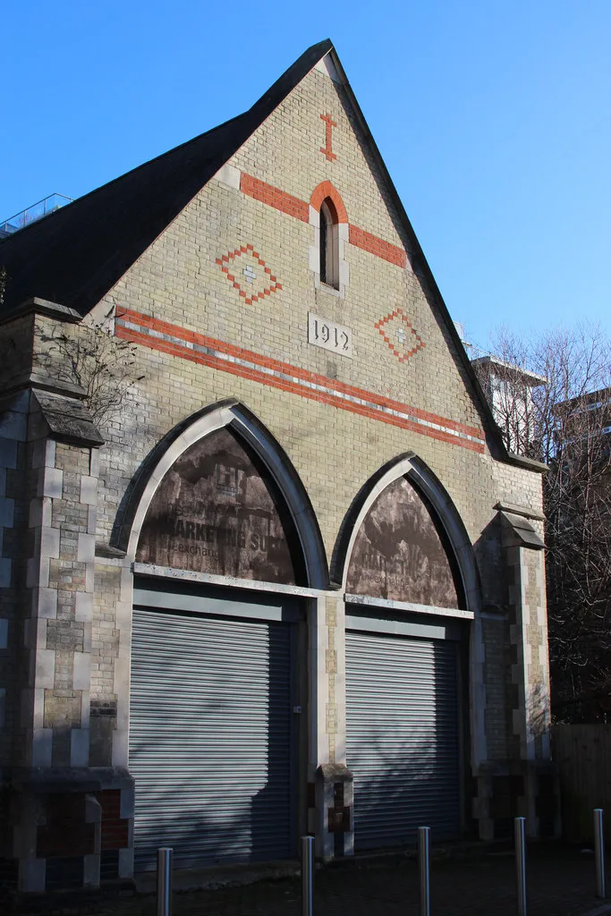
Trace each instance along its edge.
<instances>
[{"instance_id":1,"label":"weathered brown sign panel filling the smaller right arch","mask_svg":"<svg viewBox=\"0 0 611 916\"><path fill-rule=\"evenodd\" d=\"M404 478L387 486L356 535L347 591L458 607L453 571L431 512Z\"/></svg>"}]
</instances>

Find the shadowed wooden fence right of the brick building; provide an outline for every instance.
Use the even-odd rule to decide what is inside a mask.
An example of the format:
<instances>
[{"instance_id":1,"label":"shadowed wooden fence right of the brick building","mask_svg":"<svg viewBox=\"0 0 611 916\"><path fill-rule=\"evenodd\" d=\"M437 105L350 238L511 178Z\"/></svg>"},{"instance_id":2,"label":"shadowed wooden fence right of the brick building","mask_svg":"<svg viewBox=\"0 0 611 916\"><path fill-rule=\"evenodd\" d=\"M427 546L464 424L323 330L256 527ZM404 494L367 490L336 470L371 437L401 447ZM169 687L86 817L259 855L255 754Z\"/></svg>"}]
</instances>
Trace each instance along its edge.
<instances>
[{"instance_id":1,"label":"shadowed wooden fence right of the brick building","mask_svg":"<svg viewBox=\"0 0 611 916\"><path fill-rule=\"evenodd\" d=\"M562 836L592 845L592 812L603 808L611 845L611 725L554 725L551 748L560 782Z\"/></svg>"}]
</instances>

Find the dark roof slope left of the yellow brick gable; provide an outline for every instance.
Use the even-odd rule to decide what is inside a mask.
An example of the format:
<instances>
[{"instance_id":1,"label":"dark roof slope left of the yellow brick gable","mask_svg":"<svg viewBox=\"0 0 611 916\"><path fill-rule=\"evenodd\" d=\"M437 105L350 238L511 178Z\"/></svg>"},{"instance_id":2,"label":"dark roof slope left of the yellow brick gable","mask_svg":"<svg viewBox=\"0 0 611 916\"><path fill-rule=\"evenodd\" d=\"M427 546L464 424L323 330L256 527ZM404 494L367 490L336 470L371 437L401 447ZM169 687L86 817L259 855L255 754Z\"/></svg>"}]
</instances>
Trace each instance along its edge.
<instances>
[{"instance_id":1,"label":"dark roof slope left of the yellow brick gable","mask_svg":"<svg viewBox=\"0 0 611 916\"><path fill-rule=\"evenodd\" d=\"M305 51L245 114L0 241L2 311L38 296L85 315L331 48Z\"/></svg>"}]
</instances>

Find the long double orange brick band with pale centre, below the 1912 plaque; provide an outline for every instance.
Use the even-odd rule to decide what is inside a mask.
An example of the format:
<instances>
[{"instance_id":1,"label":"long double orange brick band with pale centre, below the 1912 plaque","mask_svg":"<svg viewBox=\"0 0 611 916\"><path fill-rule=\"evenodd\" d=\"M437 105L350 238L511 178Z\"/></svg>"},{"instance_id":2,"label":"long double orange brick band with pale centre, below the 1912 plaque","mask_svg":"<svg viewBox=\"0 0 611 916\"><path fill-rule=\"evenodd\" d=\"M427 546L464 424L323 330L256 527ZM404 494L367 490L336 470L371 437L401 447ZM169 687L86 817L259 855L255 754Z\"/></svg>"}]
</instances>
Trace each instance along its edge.
<instances>
[{"instance_id":1,"label":"long double orange brick band with pale centre, below the 1912 plaque","mask_svg":"<svg viewBox=\"0 0 611 916\"><path fill-rule=\"evenodd\" d=\"M373 392L335 379L320 376L256 354L242 347L226 344L213 337L186 331L178 325L158 321L128 309L117 312L115 334L123 340L142 344L154 350L178 356L200 365L228 372L234 376L289 391L302 398L350 410L372 420L419 432L442 442L452 442L474 452L484 452L484 435L475 427L446 420L426 410L411 408L399 401L382 398Z\"/></svg>"}]
</instances>

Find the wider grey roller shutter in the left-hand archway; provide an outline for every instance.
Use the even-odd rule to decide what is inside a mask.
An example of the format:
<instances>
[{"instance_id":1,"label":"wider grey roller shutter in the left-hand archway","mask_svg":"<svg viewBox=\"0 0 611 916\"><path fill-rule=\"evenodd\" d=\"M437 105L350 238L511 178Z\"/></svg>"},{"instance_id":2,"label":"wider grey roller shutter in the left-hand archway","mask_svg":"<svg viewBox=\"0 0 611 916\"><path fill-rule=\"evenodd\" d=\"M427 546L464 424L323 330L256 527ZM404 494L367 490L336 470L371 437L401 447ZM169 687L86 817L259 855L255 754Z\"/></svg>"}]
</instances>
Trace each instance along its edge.
<instances>
[{"instance_id":1,"label":"wider grey roller shutter in the left-hand archway","mask_svg":"<svg viewBox=\"0 0 611 916\"><path fill-rule=\"evenodd\" d=\"M290 625L136 608L136 869L287 858Z\"/></svg>"}]
</instances>

